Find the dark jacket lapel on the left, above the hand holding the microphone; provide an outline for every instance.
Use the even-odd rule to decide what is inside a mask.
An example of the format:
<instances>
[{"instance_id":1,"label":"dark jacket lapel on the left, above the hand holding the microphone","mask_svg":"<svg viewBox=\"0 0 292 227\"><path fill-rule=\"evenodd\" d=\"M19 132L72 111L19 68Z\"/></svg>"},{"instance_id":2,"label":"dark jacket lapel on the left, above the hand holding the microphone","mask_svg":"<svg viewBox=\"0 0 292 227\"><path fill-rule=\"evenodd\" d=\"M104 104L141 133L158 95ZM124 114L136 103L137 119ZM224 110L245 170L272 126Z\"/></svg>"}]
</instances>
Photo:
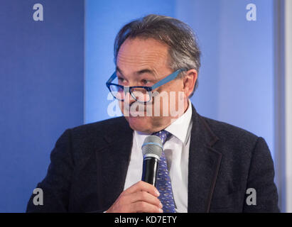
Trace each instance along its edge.
<instances>
[{"instance_id":1,"label":"dark jacket lapel on the left, above the hand holding the microphone","mask_svg":"<svg viewBox=\"0 0 292 227\"><path fill-rule=\"evenodd\" d=\"M97 150L97 193L101 210L105 211L124 190L133 131L124 116L116 118L110 130L104 131L105 145ZM114 128L114 129L113 129Z\"/></svg>"}]
</instances>

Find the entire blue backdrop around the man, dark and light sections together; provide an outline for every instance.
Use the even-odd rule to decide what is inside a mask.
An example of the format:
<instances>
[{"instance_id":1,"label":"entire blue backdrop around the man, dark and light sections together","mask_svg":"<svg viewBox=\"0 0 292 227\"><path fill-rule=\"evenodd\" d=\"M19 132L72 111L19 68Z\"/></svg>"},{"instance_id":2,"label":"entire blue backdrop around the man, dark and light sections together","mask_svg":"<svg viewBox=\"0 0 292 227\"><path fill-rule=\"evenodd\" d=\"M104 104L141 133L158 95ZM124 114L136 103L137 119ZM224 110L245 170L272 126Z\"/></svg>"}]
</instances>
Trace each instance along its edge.
<instances>
[{"instance_id":1,"label":"entire blue backdrop around the man, dark and light sections together","mask_svg":"<svg viewBox=\"0 0 292 227\"><path fill-rule=\"evenodd\" d=\"M0 2L0 212L22 212L66 128L110 116L105 82L119 28L148 13L198 34L204 116L263 136L274 153L272 0ZM33 21L33 4L44 21ZM246 20L247 4L257 21ZM110 96L109 96L110 97Z\"/></svg>"}]
</instances>

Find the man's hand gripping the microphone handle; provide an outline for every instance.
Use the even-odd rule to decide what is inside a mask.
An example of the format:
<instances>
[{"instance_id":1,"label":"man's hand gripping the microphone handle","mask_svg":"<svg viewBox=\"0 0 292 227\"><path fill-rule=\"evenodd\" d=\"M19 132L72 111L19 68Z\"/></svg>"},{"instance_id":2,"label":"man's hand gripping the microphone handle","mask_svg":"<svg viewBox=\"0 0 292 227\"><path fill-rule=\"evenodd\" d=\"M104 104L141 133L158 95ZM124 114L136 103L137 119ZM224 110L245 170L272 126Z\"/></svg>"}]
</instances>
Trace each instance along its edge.
<instances>
[{"instance_id":1,"label":"man's hand gripping the microphone handle","mask_svg":"<svg viewBox=\"0 0 292 227\"><path fill-rule=\"evenodd\" d=\"M158 196L156 187L140 181L121 192L106 213L162 213Z\"/></svg>"}]
</instances>

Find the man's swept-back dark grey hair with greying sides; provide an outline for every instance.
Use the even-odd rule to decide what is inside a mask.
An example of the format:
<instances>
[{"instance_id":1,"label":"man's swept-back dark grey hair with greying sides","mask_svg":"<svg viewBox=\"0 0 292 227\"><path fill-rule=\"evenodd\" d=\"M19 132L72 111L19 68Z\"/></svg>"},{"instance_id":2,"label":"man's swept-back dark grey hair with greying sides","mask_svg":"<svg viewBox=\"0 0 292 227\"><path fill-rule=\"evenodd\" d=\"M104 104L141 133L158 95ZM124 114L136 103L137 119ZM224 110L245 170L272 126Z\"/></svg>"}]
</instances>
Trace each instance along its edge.
<instances>
[{"instance_id":1,"label":"man's swept-back dark grey hair with greying sides","mask_svg":"<svg viewBox=\"0 0 292 227\"><path fill-rule=\"evenodd\" d=\"M127 23L121 28L114 40L114 63L117 65L119 48L127 38L154 38L169 46L170 67L173 71L180 68L200 69L200 49L195 33L187 24L169 16L149 14ZM185 76L181 72L178 78ZM198 79L195 89L198 87ZM193 90L190 97L195 92Z\"/></svg>"}]
</instances>

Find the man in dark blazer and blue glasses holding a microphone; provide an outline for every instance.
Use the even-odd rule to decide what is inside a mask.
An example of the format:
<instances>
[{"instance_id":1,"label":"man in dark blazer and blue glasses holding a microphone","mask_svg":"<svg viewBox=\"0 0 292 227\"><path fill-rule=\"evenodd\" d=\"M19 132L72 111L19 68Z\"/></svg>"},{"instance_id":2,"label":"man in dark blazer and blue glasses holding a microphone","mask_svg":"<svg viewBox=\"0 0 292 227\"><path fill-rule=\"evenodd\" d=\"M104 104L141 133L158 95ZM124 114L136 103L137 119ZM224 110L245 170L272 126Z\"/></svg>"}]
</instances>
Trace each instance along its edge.
<instances>
[{"instance_id":1,"label":"man in dark blazer and blue glasses holding a microphone","mask_svg":"<svg viewBox=\"0 0 292 227\"><path fill-rule=\"evenodd\" d=\"M38 184L43 205L32 195L28 212L279 211L264 139L202 117L190 103L200 50L185 23L148 15L126 24L114 59L107 87L124 116L65 131ZM141 181L148 135L163 142L157 189Z\"/></svg>"}]
</instances>

